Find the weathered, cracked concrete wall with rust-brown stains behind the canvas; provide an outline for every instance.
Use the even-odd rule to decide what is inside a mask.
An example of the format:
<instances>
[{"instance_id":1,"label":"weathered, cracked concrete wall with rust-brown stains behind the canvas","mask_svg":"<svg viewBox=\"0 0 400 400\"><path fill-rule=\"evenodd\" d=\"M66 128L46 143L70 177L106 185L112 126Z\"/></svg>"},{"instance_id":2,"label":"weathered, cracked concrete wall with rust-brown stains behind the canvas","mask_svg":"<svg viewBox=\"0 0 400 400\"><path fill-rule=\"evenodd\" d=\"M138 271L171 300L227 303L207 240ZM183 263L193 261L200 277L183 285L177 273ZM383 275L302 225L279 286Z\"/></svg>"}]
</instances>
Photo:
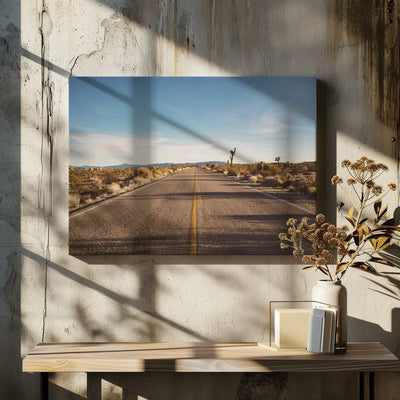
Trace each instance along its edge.
<instances>
[{"instance_id":1,"label":"weathered, cracked concrete wall with rust-brown stains behind the canvas","mask_svg":"<svg viewBox=\"0 0 400 400\"><path fill-rule=\"evenodd\" d=\"M326 181L344 157L386 162L388 182L399 181L398 0L0 0L0 9L1 398L37 396L38 378L20 372L37 342L266 340L268 301L308 299L318 279L265 257L70 257L69 76L315 76L330 218L341 197ZM392 211L398 199L387 198ZM398 281L345 278L349 339L399 356ZM234 399L240 375L103 378L110 399ZM57 399L85 398L83 374L52 382ZM287 399L357 390L354 374L288 382ZM377 398L395 399L399 382L380 374Z\"/></svg>"}]
</instances>

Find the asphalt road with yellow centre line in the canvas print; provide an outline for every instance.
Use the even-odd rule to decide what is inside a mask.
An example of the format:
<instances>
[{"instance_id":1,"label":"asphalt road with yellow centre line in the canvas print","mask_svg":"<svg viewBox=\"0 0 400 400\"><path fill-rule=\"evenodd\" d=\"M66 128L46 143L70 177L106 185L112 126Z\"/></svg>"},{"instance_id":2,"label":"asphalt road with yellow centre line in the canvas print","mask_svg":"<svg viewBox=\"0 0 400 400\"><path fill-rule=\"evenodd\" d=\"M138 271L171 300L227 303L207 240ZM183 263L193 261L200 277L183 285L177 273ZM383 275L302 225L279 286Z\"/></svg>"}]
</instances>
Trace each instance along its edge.
<instances>
[{"instance_id":1,"label":"asphalt road with yellow centre line in the canvas print","mask_svg":"<svg viewBox=\"0 0 400 400\"><path fill-rule=\"evenodd\" d=\"M276 255L295 205L193 167L70 216L70 254Z\"/></svg>"}]
</instances>

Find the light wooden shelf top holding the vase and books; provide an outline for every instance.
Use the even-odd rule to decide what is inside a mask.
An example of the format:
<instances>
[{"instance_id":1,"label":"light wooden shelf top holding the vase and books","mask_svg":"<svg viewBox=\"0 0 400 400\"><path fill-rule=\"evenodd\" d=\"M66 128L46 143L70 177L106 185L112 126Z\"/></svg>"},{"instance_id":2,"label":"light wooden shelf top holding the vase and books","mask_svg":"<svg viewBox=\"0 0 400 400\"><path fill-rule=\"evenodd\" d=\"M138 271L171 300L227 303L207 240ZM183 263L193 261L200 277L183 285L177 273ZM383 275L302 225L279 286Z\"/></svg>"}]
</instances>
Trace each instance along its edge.
<instances>
[{"instance_id":1,"label":"light wooden shelf top holding the vase and books","mask_svg":"<svg viewBox=\"0 0 400 400\"><path fill-rule=\"evenodd\" d=\"M24 372L326 372L400 371L375 342L348 343L345 354L272 350L251 343L43 343L23 360Z\"/></svg>"}]
</instances>

